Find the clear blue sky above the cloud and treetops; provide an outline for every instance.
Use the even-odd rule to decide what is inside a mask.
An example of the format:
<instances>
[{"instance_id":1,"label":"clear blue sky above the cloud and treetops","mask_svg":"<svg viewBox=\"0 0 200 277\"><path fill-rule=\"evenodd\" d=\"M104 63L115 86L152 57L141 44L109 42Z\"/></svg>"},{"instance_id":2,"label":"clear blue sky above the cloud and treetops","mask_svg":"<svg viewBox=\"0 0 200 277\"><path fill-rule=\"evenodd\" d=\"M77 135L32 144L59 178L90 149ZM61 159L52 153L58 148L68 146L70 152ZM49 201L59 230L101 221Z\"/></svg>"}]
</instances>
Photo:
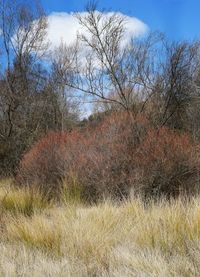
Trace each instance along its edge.
<instances>
[{"instance_id":1,"label":"clear blue sky above the cloud and treetops","mask_svg":"<svg viewBox=\"0 0 200 277\"><path fill-rule=\"evenodd\" d=\"M83 11L85 0L42 0L47 14ZM173 39L200 38L200 0L100 0L98 9L133 16Z\"/></svg>"}]
</instances>

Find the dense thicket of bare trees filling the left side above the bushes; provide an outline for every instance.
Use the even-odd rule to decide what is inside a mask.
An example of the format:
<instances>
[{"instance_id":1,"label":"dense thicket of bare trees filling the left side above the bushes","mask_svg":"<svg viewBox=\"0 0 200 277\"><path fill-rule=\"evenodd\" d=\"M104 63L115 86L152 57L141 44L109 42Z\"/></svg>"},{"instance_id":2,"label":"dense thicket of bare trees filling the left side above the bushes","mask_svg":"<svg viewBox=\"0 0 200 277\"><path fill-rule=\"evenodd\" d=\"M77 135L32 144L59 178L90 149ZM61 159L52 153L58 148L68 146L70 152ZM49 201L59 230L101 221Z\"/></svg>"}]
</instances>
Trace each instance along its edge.
<instances>
[{"instance_id":1,"label":"dense thicket of bare trees filling the left side above the bushes","mask_svg":"<svg viewBox=\"0 0 200 277\"><path fill-rule=\"evenodd\" d=\"M70 129L78 103L58 82L49 55L47 18L35 2L0 1L0 175L48 130Z\"/></svg>"}]
</instances>

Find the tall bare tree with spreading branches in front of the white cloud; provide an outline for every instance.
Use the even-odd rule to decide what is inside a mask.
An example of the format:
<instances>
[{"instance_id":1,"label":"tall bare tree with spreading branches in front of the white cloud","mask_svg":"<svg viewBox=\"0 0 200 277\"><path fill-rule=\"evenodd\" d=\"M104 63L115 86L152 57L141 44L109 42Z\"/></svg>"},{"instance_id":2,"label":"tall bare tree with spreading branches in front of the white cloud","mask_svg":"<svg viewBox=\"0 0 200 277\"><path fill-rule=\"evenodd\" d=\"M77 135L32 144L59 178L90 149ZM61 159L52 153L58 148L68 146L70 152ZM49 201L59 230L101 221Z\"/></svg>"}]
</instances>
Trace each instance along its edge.
<instances>
[{"instance_id":1,"label":"tall bare tree with spreading branches in front of the white cloud","mask_svg":"<svg viewBox=\"0 0 200 277\"><path fill-rule=\"evenodd\" d=\"M78 35L79 57L74 59L73 74L66 84L86 93L92 101L133 110L136 95L144 90L146 98L151 94L156 70L153 46L161 41L161 35L130 39L124 45L125 18L100 13L94 3L88 5L85 15L76 14L76 18L86 32Z\"/></svg>"}]
</instances>

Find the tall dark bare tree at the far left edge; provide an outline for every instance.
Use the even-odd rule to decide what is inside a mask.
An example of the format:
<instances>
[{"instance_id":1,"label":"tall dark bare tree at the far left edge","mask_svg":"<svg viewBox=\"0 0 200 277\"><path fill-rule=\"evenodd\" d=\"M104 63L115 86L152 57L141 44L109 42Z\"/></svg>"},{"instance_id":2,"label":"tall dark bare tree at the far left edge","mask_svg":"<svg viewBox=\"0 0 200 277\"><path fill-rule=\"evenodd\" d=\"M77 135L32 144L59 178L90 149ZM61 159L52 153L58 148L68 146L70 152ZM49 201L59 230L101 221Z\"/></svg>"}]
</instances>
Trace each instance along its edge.
<instances>
[{"instance_id":1,"label":"tall dark bare tree at the far left edge","mask_svg":"<svg viewBox=\"0 0 200 277\"><path fill-rule=\"evenodd\" d=\"M35 93L46 86L47 74L40 59L47 50L44 43L47 19L35 8L19 1L0 1L0 45L2 49L0 91L0 143L9 162L16 163L28 141L31 143L40 118L33 116ZM33 120L37 122L33 124ZM2 156L2 161L4 160ZM9 168L9 165L6 165Z\"/></svg>"}]
</instances>

